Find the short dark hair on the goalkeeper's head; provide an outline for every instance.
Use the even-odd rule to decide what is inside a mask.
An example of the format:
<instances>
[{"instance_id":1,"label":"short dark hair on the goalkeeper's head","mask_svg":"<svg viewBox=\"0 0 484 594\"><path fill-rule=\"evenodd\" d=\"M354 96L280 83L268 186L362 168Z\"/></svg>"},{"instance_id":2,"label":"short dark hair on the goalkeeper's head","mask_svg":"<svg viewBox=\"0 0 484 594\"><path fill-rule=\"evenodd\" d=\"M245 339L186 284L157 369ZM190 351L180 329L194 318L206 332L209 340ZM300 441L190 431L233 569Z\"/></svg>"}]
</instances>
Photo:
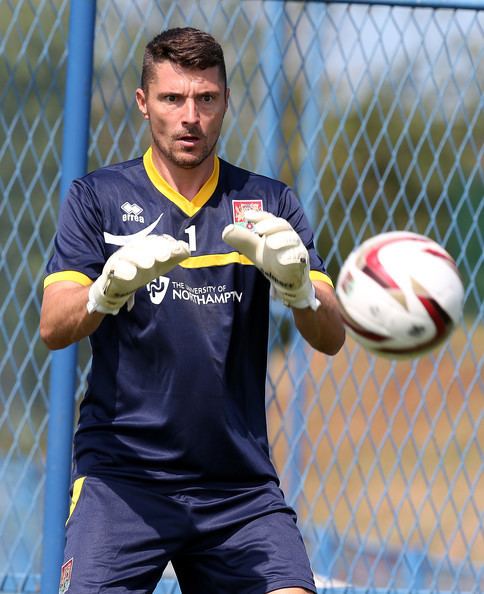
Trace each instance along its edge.
<instances>
[{"instance_id":1,"label":"short dark hair on the goalkeeper's head","mask_svg":"<svg viewBox=\"0 0 484 594\"><path fill-rule=\"evenodd\" d=\"M141 71L141 88L148 90L154 78L154 64L169 60L183 68L205 70L217 66L227 87L224 53L218 41L193 27L167 29L154 37L146 46Z\"/></svg>"}]
</instances>

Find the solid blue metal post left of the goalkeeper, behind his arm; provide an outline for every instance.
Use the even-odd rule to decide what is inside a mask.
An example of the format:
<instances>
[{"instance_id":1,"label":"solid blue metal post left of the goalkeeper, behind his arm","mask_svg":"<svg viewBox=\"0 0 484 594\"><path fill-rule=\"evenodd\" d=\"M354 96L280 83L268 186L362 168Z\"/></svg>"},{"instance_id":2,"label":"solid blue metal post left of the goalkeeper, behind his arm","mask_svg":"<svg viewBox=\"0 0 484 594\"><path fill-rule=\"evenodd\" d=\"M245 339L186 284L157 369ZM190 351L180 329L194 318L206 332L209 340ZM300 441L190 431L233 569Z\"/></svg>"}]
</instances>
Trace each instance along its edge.
<instances>
[{"instance_id":1,"label":"solid blue metal post left of the goalkeeper, behind his arm","mask_svg":"<svg viewBox=\"0 0 484 594\"><path fill-rule=\"evenodd\" d=\"M96 0L72 0L64 105L61 200L87 169ZM68 511L77 347L52 355L44 500L42 594L59 590Z\"/></svg>"}]
</instances>

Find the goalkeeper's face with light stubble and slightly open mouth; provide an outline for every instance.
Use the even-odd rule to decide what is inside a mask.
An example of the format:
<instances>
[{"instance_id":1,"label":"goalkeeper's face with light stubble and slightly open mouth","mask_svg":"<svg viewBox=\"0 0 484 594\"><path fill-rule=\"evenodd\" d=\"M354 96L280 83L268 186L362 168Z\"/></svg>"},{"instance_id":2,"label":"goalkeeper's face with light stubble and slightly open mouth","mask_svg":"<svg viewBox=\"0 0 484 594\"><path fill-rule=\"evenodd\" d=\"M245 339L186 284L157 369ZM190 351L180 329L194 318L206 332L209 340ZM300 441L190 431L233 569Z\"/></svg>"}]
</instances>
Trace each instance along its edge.
<instances>
[{"instance_id":1,"label":"goalkeeper's face with light stubble and slightly open mouth","mask_svg":"<svg viewBox=\"0 0 484 594\"><path fill-rule=\"evenodd\" d=\"M197 167L215 152L229 90L217 67L187 70L164 61L154 74L146 93L136 90L136 101L158 156L168 166Z\"/></svg>"}]
</instances>

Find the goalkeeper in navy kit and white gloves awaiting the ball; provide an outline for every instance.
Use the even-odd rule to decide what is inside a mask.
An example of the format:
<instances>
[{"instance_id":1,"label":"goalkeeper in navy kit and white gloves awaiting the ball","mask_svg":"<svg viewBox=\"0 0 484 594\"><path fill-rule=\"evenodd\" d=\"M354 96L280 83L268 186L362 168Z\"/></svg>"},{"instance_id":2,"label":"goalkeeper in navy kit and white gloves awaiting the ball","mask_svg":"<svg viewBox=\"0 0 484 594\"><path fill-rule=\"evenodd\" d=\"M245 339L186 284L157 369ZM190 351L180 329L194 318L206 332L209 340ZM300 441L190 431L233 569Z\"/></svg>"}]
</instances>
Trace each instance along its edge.
<instances>
[{"instance_id":1,"label":"goalkeeper in navy kit and white gloves awaiting the ball","mask_svg":"<svg viewBox=\"0 0 484 594\"><path fill-rule=\"evenodd\" d=\"M216 156L228 100L210 35L158 35L136 91L151 147L63 205L41 336L92 346L63 592L151 592L170 560L184 594L315 591L269 459L269 293L324 353L344 329L293 192Z\"/></svg>"}]
</instances>

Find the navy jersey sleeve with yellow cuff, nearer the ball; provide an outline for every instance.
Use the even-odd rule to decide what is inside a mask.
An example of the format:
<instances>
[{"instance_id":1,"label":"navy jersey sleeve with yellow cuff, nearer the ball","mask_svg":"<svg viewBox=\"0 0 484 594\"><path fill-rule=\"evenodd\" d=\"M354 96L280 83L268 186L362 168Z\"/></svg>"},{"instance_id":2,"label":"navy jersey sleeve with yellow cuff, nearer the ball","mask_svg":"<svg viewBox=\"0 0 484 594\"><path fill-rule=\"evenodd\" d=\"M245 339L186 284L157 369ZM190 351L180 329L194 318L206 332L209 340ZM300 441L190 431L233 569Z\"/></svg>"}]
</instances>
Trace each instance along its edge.
<instances>
[{"instance_id":1,"label":"navy jersey sleeve with yellow cuff, nearer the ball","mask_svg":"<svg viewBox=\"0 0 484 594\"><path fill-rule=\"evenodd\" d=\"M333 285L324 261L316 251L311 225L294 191L288 186L284 188L281 194L277 216L286 219L291 224L306 246L309 253L309 276L311 280L320 280Z\"/></svg>"}]
</instances>

